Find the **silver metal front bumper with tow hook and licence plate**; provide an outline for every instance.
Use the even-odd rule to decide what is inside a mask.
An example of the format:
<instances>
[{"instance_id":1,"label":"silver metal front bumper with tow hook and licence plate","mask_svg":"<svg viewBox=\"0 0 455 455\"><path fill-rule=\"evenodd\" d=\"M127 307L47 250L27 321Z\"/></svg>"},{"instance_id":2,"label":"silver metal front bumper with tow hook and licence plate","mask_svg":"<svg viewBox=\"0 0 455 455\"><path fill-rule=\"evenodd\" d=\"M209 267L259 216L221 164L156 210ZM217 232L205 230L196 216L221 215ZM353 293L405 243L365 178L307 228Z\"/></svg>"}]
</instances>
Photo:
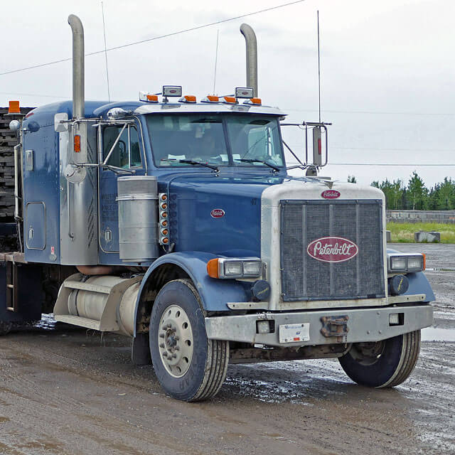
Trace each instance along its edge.
<instances>
[{"instance_id":1,"label":"silver metal front bumper with tow hook and licence plate","mask_svg":"<svg viewBox=\"0 0 455 455\"><path fill-rule=\"evenodd\" d=\"M390 314L399 314L399 325L390 324ZM343 319L348 316L346 336L323 334L323 318ZM392 319L394 316L392 316ZM397 318L397 316L395 316ZM257 321L274 321L273 333L257 333ZM408 333L433 323L433 307L429 304L387 306L362 309L325 309L323 311L262 312L244 316L205 318L207 336L213 340L240 341L267 346L319 346L333 343L380 341ZM289 324L302 324L309 330L308 341L280 342L280 330ZM308 326L309 324L309 326Z\"/></svg>"}]
</instances>

